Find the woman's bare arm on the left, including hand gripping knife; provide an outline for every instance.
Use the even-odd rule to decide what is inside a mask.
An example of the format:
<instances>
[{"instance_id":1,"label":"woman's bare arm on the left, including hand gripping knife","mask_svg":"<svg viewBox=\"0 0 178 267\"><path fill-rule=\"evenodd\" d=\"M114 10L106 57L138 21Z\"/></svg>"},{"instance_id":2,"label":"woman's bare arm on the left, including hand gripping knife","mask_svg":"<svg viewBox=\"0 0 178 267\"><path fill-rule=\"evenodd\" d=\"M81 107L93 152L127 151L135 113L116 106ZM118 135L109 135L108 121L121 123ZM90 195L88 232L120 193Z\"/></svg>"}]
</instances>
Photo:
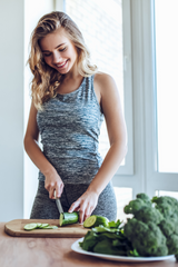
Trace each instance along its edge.
<instances>
[{"instance_id":1,"label":"woman's bare arm on the left, including hand gripping knife","mask_svg":"<svg viewBox=\"0 0 178 267\"><path fill-rule=\"evenodd\" d=\"M40 147L38 146L39 129L37 125L37 109L31 102L30 115L27 126L27 131L24 135L24 149L33 164L41 170L44 175L44 187L49 191L49 197L53 197L53 190L56 190L56 196L60 197L63 190L63 182L53 168L53 166L43 156Z\"/></svg>"}]
</instances>

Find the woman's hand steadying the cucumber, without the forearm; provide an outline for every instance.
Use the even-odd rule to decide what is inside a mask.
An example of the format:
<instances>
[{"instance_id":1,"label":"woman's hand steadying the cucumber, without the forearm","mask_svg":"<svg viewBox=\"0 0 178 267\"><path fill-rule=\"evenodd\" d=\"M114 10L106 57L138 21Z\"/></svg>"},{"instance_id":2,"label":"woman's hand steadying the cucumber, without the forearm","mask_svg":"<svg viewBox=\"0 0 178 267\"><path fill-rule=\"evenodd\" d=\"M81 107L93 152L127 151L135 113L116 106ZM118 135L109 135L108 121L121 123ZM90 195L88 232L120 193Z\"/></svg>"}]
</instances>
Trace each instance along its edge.
<instances>
[{"instance_id":1,"label":"woman's hand steadying the cucumber, without the forearm","mask_svg":"<svg viewBox=\"0 0 178 267\"><path fill-rule=\"evenodd\" d=\"M69 208L69 212L79 211L79 222L82 224L93 211L98 204L98 194L86 191Z\"/></svg>"}]
</instances>

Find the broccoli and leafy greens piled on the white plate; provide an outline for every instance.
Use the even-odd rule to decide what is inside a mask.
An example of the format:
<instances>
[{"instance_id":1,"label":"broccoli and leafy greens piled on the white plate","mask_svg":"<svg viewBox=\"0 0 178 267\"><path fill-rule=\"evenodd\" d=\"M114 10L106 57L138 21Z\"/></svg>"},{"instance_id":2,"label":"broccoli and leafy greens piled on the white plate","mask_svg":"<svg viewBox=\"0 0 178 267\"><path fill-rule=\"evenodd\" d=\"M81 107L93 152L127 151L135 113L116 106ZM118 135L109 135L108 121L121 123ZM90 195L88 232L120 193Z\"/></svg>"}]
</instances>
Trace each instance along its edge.
<instances>
[{"instance_id":1,"label":"broccoli and leafy greens piled on the white plate","mask_svg":"<svg viewBox=\"0 0 178 267\"><path fill-rule=\"evenodd\" d=\"M175 255L178 261L178 201L171 197L138 194L125 207L128 218L100 225L87 233L80 246L100 254L132 257Z\"/></svg>"}]
</instances>

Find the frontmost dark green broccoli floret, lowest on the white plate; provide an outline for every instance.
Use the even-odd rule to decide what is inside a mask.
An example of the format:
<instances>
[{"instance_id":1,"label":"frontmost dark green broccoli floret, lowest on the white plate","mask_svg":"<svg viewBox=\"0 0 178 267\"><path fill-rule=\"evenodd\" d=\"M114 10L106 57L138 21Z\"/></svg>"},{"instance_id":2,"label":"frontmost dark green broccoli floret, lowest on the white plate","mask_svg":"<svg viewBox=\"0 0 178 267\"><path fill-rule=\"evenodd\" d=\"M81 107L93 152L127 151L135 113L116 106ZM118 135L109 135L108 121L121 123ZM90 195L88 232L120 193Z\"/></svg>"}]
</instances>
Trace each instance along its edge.
<instances>
[{"instance_id":1,"label":"frontmost dark green broccoli floret, lowest on the white plate","mask_svg":"<svg viewBox=\"0 0 178 267\"><path fill-rule=\"evenodd\" d=\"M132 218L128 219L123 230L140 256L165 256L168 254L166 237L156 224L145 224Z\"/></svg>"}]
</instances>

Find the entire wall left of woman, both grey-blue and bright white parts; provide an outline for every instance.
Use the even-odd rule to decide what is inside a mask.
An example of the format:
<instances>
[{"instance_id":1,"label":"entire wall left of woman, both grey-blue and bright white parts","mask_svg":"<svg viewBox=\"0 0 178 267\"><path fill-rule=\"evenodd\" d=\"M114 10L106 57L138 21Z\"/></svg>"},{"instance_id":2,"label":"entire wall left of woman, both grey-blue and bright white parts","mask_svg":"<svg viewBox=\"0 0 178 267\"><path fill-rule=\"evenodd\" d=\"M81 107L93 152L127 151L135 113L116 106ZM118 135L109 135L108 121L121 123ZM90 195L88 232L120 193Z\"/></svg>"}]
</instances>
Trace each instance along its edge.
<instances>
[{"instance_id":1,"label":"entire wall left of woman, both grey-blue and bright white parts","mask_svg":"<svg viewBox=\"0 0 178 267\"><path fill-rule=\"evenodd\" d=\"M38 185L23 149L30 106L26 62L31 31L53 0L0 1L0 221L28 218Z\"/></svg>"}]
</instances>

